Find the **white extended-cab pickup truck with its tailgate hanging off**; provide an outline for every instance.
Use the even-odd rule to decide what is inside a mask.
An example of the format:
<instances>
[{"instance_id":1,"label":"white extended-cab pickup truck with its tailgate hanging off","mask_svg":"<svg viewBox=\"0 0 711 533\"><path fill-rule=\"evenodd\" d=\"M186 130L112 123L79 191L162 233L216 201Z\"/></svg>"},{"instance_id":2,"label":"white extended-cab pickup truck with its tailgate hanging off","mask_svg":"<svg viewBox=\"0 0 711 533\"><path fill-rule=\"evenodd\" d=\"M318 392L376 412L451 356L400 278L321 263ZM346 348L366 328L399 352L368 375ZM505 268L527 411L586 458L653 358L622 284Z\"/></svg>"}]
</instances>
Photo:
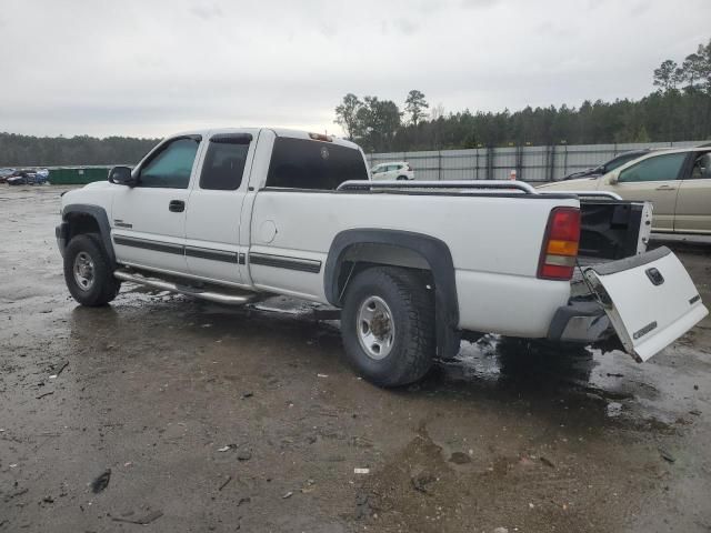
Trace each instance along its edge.
<instances>
[{"instance_id":1,"label":"white extended-cab pickup truck with its tailgate hanging off","mask_svg":"<svg viewBox=\"0 0 711 533\"><path fill-rule=\"evenodd\" d=\"M340 309L349 360L390 386L462 334L591 342L644 361L707 313L651 207L500 181L372 182L358 145L316 133L181 133L62 197L72 296L122 281L216 302L273 294ZM589 197L587 197L589 195Z\"/></svg>"}]
</instances>

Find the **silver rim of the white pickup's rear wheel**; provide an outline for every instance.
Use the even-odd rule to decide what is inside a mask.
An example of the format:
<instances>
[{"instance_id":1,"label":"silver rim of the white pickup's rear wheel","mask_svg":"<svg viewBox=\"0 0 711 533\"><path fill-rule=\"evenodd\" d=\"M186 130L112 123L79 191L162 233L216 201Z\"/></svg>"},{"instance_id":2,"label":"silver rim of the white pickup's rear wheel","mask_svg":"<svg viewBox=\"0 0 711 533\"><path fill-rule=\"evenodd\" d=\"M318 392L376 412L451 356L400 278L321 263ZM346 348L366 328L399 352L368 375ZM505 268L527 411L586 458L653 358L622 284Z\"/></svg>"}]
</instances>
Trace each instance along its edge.
<instances>
[{"instance_id":1,"label":"silver rim of the white pickup's rear wheel","mask_svg":"<svg viewBox=\"0 0 711 533\"><path fill-rule=\"evenodd\" d=\"M370 359L381 360L392 350L395 324L392 312L380 296L369 296L358 310L358 341Z\"/></svg>"}]
</instances>

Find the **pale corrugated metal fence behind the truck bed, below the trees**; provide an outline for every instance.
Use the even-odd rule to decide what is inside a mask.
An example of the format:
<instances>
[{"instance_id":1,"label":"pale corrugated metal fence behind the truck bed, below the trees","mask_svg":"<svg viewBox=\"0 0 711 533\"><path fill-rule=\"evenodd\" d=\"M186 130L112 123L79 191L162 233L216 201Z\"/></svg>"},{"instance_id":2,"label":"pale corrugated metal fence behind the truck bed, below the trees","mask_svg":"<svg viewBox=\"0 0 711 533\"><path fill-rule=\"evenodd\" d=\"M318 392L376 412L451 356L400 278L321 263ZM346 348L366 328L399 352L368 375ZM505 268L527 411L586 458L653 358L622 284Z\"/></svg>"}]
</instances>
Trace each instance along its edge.
<instances>
[{"instance_id":1,"label":"pale corrugated metal fence behind the truck bed, below the trees","mask_svg":"<svg viewBox=\"0 0 711 533\"><path fill-rule=\"evenodd\" d=\"M418 180L505 180L510 178L511 171L515 170L517 179L540 182L553 181L571 172L597 167L629 150L687 148L703 142L475 148L369 153L367 158L371 167L390 161L407 161L414 169Z\"/></svg>"}]
</instances>

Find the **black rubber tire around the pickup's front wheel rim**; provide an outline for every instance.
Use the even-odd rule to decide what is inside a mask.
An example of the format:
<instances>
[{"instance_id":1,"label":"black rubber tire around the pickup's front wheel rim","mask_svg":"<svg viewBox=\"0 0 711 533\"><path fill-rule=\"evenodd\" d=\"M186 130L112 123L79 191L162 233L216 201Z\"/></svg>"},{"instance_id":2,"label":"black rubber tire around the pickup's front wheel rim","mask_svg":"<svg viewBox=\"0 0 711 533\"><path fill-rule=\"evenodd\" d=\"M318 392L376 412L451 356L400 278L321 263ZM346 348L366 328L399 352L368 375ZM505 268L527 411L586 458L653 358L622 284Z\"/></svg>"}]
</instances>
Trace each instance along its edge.
<instances>
[{"instance_id":1,"label":"black rubber tire around the pickup's front wheel rim","mask_svg":"<svg viewBox=\"0 0 711 533\"><path fill-rule=\"evenodd\" d=\"M90 258L92 281L82 286L74 276L74 261L79 254ZM101 240L96 233L79 234L69 241L64 251L64 281L72 298L82 305L106 305L116 298L121 283L113 276Z\"/></svg>"}]
</instances>

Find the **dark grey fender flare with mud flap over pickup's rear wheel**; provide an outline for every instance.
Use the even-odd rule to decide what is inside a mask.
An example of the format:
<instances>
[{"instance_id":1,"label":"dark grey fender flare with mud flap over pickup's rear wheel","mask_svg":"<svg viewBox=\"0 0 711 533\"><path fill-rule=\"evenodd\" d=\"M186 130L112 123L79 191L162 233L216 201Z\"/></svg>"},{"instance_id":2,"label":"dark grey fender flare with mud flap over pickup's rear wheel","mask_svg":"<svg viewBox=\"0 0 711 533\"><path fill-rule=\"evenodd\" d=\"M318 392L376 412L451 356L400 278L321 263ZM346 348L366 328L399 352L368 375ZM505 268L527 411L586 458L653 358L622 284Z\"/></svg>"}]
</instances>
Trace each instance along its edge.
<instances>
[{"instance_id":1,"label":"dark grey fender flare with mud flap over pickup's rear wheel","mask_svg":"<svg viewBox=\"0 0 711 533\"><path fill-rule=\"evenodd\" d=\"M437 352L451 358L459 350L459 303L454 263L443 241L400 230L354 229L333 239L323 272L326 298L340 306L352 270L347 264L404 266L431 272L434 282Z\"/></svg>"}]
</instances>

